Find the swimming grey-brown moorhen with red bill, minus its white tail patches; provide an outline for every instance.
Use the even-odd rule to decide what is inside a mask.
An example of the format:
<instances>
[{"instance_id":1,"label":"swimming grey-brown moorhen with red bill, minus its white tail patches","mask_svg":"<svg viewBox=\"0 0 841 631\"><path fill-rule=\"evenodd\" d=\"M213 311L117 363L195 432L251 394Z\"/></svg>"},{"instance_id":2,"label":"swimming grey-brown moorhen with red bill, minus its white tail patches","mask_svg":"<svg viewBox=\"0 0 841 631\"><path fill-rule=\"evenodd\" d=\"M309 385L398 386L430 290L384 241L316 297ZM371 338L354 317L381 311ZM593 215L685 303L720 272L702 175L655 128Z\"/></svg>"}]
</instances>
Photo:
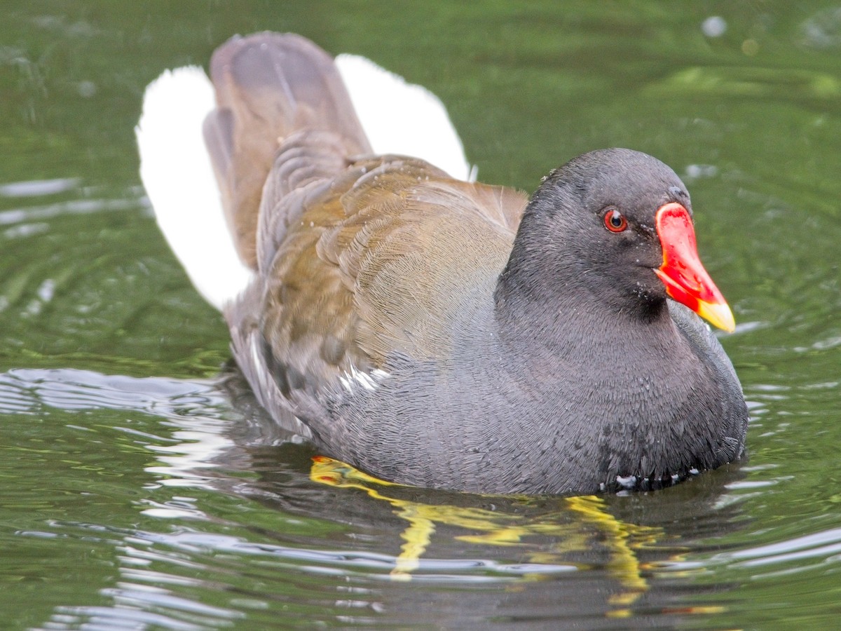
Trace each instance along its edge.
<instances>
[{"instance_id":1,"label":"swimming grey-brown moorhen with red bill, minus its white tail patches","mask_svg":"<svg viewBox=\"0 0 841 631\"><path fill-rule=\"evenodd\" d=\"M204 123L251 284L225 308L267 411L385 480L482 493L668 485L739 459L748 411L699 315L733 315L674 172L627 149L531 199L373 155L334 60L215 51Z\"/></svg>"}]
</instances>

